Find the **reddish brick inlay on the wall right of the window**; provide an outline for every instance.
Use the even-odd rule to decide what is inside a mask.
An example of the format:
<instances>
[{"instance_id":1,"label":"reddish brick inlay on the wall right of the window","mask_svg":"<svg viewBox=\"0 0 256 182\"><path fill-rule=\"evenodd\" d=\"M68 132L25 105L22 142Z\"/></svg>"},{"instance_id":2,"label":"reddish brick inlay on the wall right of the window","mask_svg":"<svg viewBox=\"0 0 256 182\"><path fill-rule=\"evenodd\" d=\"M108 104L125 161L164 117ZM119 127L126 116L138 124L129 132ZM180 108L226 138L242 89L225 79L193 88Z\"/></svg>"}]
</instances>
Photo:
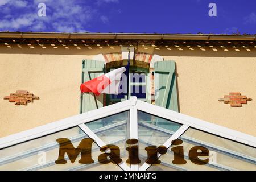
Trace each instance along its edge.
<instances>
[{"instance_id":1,"label":"reddish brick inlay on the wall right of the window","mask_svg":"<svg viewBox=\"0 0 256 182\"><path fill-rule=\"evenodd\" d=\"M242 107L242 104L247 104L247 101L251 100L251 98L242 96L240 92L230 92L224 98L218 99L218 101L224 101L225 104L230 104L232 107Z\"/></svg>"}]
</instances>

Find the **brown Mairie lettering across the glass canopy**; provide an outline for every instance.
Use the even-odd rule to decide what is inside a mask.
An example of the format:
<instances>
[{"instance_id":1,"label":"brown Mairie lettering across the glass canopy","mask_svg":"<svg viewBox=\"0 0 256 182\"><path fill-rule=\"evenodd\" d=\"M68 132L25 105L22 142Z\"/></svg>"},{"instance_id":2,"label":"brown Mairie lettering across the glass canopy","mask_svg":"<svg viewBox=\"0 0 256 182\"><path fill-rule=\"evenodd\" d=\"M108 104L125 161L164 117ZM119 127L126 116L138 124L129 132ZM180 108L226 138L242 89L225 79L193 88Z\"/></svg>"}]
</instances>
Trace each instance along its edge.
<instances>
[{"instance_id":1,"label":"brown Mairie lettering across the glass canopy","mask_svg":"<svg viewBox=\"0 0 256 182\"><path fill-rule=\"evenodd\" d=\"M92 144L94 139L84 138L79 143L79 146L75 148L71 141L68 138L58 138L56 140L59 143L59 157L55 161L56 164L65 164L67 160L65 160L65 153L68 155L71 163L74 163L77 156L81 153L81 159L79 163L81 164L90 164L93 163L92 159ZM129 164L139 164L141 160L139 159L139 146L137 139L129 139L126 141L129 144L129 147L126 147L128 151L128 159L126 163ZM172 140L171 151L174 152L174 159L172 160L173 164L185 164L187 161L184 159L184 147L181 146L183 143L182 140L176 139ZM158 159L159 154L166 154L167 148L166 146L148 146L145 148L147 151L147 164L160 164L161 161ZM100 148L101 152L104 152L98 156L98 162L102 164L114 163L119 164L122 162L120 158L120 149L118 146L114 144L107 144ZM209 158L200 159L199 156L209 156L209 150L203 146L194 146L188 152L189 159L192 163L198 165L204 165L209 162Z\"/></svg>"}]
</instances>

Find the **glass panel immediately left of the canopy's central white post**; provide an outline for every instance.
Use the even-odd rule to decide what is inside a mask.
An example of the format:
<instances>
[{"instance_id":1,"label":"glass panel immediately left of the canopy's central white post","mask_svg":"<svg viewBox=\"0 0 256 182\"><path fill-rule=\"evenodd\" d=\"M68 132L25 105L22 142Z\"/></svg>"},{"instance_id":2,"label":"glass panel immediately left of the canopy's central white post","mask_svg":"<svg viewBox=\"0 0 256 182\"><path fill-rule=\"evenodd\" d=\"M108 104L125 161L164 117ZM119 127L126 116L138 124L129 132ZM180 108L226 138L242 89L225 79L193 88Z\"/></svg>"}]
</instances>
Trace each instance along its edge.
<instances>
[{"instance_id":1,"label":"glass panel immediately left of the canopy's central white post","mask_svg":"<svg viewBox=\"0 0 256 182\"><path fill-rule=\"evenodd\" d=\"M85 123L105 144L114 144L120 149L123 162L127 160L126 140L130 139L130 111ZM105 123L104 126L101 123Z\"/></svg>"}]
</instances>

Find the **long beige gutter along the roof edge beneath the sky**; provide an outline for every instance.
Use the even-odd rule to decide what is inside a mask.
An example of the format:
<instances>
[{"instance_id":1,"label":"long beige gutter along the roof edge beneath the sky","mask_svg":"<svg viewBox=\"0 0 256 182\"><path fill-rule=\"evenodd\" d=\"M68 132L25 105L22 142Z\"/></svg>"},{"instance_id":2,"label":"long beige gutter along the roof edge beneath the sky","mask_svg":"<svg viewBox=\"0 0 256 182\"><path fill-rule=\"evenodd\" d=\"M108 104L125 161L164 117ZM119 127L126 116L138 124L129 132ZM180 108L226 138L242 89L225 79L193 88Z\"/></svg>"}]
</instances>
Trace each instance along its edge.
<instances>
[{"instance_id":1,"label":"long beige gutter along the roof edge beneath the sky","mask_svg":"<svg viewBox=\"0 0 256 182\"><path fill-rule=\"evenodd\" d=\"M256 34L254 34L254 35L226 35L226 34L0 32L0 38L148 39L148 40L237 40L237 41L255 41L256 40Z\"/></svg>"}]
</instances>

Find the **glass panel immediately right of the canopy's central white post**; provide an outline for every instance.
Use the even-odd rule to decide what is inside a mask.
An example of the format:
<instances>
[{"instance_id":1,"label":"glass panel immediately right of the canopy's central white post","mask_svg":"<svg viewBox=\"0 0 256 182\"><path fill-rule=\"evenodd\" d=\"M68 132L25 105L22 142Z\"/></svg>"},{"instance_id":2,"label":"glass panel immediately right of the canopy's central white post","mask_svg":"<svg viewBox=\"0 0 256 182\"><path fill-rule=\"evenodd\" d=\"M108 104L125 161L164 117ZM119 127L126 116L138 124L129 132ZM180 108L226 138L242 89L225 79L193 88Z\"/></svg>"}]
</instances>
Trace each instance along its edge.
<instances>
[{"instance_id":1,"label":"glass panel immediately right of the canopy's central white post","mask_svg":"<svg viewBox=\"0 0 256 182\"><path fill-rule=\"evenodd\" d=\"M158 120L170 123L169 130L163 130L161 127L156 126L155 123ZM142 166L147 159L146 147L158 147L163 145L172 136L172 134L179 129L180 126L181 125L178 123L138 111L139 157L142 160L139 165ZM160 168L167 170L168 166ZM175 170L175 168L172 168L171 170Z\"/></svg>"}]
</instances>

